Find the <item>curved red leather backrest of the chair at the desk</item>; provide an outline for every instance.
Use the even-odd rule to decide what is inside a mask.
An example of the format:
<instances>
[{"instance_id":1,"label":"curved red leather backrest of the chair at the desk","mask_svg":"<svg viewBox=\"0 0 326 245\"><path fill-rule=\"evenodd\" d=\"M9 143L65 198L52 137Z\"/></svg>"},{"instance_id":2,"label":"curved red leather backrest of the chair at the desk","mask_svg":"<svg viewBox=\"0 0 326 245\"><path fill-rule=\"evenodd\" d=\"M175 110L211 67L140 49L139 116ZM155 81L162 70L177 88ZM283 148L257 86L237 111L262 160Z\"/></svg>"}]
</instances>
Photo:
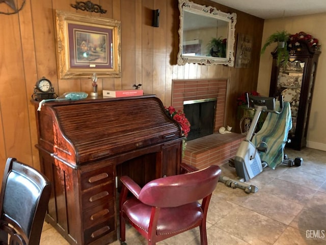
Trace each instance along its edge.
<instances>
[{"instance_id":1,"label":"curved red leather backrest of the chair at the desk","mask_svg":"<svg viewBox=\"0 0 326 245\"><path fill-rule=\"evenodd\" d=\"M177 207L192 203L214 191L220 174L220 167L211 165L192 173L159 178L147 183L138 199L155 207Z\"/></svg>"}]
</instances>

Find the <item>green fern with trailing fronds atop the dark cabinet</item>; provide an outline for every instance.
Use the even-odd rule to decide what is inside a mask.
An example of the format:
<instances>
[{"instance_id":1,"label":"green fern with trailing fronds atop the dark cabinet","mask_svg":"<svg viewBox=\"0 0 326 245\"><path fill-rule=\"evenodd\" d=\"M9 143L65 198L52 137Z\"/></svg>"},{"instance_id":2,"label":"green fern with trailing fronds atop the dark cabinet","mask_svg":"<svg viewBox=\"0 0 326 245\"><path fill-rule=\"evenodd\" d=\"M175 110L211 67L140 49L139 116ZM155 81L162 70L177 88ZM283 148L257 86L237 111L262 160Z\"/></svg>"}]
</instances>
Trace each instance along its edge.
<instances>
[{"instance_id":1,"label":"green fern with trailing fronds atop the dark cabinet","mask_svg":"<svg viewBox=\"0 0 326 245\"><path fill-rule=\"evenodd\" d=\"M264 46L261 48L260 54L263 54L266 50L266 47L269 46L272 43L277 42L277 65L280 64L280 62L284 60L288 60L289 58L289 52L287 50L287 41L289 40L290 34L287 31L277 31L273 34L271 34L264 44ZM285 64L286 62L284 62Z\"/></svg>"}]
</instances>

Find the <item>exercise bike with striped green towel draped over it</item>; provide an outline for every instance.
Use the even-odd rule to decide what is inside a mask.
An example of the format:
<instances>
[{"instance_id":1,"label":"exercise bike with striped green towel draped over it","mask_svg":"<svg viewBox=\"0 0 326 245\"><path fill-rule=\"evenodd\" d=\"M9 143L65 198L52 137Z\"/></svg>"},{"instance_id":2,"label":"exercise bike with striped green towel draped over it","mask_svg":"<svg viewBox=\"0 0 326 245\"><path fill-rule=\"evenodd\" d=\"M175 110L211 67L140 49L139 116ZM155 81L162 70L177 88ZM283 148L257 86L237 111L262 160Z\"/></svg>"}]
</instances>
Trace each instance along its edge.
<instances>
[{"instance_id":1,"label":"exercise bike with striped green towel draped over it","mask_svg":"<svg viewBox=\"0 0 326 245\"><path fill-rule=\"evenodd\" d=\"M255 115L246 139L240 143L235 158L229 161L229 165L235 167L238 178L222 176L220 181L231 188L241 188L246 193L251 193L258 191L258 187L244 182L260 174L264 167L275 169L279 164L301 166L303 159L289 159L283 152L285 144L289 142L288 132L292 128L290 105L283 102L283 96L276 103L274 97L246 93L246 102L248 109L254 110ZM268 112L268 115L261 130L255 134L262 112Z\"/></svg>"}]
</instances>

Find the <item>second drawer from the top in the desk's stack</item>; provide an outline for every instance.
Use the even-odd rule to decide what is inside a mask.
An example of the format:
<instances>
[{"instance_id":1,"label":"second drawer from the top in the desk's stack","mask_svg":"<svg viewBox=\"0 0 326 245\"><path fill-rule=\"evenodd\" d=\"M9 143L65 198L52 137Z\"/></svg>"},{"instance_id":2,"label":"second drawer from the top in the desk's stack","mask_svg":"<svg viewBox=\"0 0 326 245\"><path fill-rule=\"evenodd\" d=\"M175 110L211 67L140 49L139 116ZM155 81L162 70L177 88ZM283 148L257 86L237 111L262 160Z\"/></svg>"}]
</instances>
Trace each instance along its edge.
<instances>
[{"instance_id":1,"label":"second drawer from the top in the desk's stack","mask_svg":"<svg viewBox=\"0 0 326 245\"><path fill-rule=\"evenodd\" d=\"M114 182L90 189L82 195L83 211L90 207L101 205L114 198Z\"/></svg>"}]
</instances>

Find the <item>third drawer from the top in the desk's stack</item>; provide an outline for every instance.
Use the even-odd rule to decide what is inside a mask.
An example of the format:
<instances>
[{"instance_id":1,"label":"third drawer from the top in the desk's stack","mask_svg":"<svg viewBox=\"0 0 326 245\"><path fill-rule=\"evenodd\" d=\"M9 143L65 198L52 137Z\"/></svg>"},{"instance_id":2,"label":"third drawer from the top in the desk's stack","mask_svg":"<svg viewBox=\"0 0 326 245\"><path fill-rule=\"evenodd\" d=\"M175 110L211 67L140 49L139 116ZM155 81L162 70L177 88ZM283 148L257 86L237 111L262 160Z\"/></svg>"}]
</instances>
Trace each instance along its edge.
<instances>
[{"instance_id":1,"label":"third drawer from the top in the desk's stack","mask_svg":"<svg viewBox=\"0 0 326 245\"><path fill-rule=\"evenodd\" d=\"M113 199L107 202L91 207L83 213L84 229L105 222L110 217L114 217L114 201Z\"/></svg>"}]
</instances>

